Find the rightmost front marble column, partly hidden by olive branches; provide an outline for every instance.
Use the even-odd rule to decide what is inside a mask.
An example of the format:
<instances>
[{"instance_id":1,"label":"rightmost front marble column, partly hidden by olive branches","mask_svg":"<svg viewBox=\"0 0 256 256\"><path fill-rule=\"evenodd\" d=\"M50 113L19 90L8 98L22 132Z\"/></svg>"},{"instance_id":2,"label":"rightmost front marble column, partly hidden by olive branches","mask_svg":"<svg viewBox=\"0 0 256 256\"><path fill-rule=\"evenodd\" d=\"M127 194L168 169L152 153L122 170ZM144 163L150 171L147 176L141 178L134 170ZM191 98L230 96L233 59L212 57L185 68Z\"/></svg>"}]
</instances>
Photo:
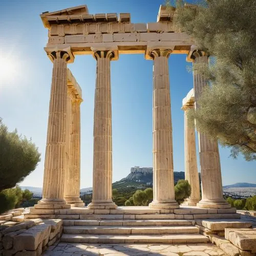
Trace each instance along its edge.
<instances>
[{"instance_id":1,"label":"rightmost front marble column, partly hidden by olive branches","mask_svg":"<svg viewBox=\"0 0 256 256\"><path fill-rule=\"evenodd\" d=\"M201 50L192 48L189 57L193 61L193 65L197 63L208 64L208 56ZM196 109L198 109L200 105L197 101L202 94L203 88L207 86L207 82L197 71L194 71L193 77ZM210 139L207 134L199 133L198 137L202 200L197 206L202 208L230 208L230 204L223 198L218 140Z\"/></svg>"}]
</instances>

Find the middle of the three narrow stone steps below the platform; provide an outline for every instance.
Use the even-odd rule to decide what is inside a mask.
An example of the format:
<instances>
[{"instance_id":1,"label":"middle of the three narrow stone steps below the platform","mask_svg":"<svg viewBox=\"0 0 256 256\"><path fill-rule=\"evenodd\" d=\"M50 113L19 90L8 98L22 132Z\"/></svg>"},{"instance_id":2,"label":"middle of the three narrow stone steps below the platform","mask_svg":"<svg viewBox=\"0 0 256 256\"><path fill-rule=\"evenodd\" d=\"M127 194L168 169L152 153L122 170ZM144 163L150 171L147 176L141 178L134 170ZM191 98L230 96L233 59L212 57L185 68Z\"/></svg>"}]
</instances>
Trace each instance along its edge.
<instances>
[{"instance_id":1,"label":"middle of the three narrow stone steps below the platform","mask_svg":"<svg viewBox=\"0 0 256 256\"><path fill-rule=\"evenodd\" d=\"M63 228L67 234L174 234L199 233L195 226L68 226Z\"/></svg>"}]
</instances>

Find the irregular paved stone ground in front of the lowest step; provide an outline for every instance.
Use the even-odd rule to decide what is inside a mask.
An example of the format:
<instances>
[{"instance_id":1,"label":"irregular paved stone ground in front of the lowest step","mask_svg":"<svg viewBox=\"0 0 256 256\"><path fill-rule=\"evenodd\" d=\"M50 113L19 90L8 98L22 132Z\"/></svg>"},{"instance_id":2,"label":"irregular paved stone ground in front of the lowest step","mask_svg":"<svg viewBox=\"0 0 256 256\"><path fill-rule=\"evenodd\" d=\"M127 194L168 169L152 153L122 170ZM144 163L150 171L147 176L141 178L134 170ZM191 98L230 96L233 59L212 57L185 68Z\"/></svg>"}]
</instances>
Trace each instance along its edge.
<instances>
[{"instance_id":1,"label":"irregular paved stone ground in front of the lowest step","mask_svg":"<svg viewBox=\"0 0 256 256\"><path fill-rule=\"evenodd\" d=\"M43 254L62 256L125 256L125 255L166 255L166 256L224 256L213 244L80 244L59 243L52 245Z\"/></svg>"}]
</instances>

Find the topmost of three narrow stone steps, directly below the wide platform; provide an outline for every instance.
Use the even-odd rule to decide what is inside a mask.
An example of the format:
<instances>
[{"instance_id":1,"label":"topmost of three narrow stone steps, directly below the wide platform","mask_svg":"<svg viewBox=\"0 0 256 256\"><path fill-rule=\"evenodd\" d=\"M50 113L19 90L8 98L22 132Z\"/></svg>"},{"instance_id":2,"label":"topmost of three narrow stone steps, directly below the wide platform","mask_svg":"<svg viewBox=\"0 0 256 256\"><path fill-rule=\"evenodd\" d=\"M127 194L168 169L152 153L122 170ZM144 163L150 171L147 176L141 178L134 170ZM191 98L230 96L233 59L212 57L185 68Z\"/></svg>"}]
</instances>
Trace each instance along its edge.
<instances>
[{"instance_id":1,"label":"topmost of three narrow stone steps, directly below the wide platform","mask_svg":"<svg viewBox=\"0 0 256 256\"><path fill-rule=\"evenodd\" d=\"M194 220L63 220L63 226L187 226L194 224Z\"/></svg>"}]
</instances>

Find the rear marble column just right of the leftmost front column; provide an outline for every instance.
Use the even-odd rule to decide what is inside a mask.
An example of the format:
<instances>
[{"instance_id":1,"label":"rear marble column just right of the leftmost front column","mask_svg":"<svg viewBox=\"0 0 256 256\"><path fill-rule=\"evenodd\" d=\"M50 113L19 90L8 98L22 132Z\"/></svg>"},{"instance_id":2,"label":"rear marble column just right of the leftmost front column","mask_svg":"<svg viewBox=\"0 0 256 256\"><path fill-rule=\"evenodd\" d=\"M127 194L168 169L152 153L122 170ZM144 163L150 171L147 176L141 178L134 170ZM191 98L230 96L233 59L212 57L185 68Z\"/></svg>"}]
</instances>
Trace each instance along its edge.
<instances>
[{"instance_id":1,"label":"rear marble column just right of the leftmost front column","mask_svg":"<svg viewBox=\"0 0 256 256\"><path fill-rule=\"evenodd\" d=\"M72 91L70 93L69 161L65 177L65 200L76 207L84 206L80 199L80 104L82 99Z\"/></svg>"}]
</instances>

